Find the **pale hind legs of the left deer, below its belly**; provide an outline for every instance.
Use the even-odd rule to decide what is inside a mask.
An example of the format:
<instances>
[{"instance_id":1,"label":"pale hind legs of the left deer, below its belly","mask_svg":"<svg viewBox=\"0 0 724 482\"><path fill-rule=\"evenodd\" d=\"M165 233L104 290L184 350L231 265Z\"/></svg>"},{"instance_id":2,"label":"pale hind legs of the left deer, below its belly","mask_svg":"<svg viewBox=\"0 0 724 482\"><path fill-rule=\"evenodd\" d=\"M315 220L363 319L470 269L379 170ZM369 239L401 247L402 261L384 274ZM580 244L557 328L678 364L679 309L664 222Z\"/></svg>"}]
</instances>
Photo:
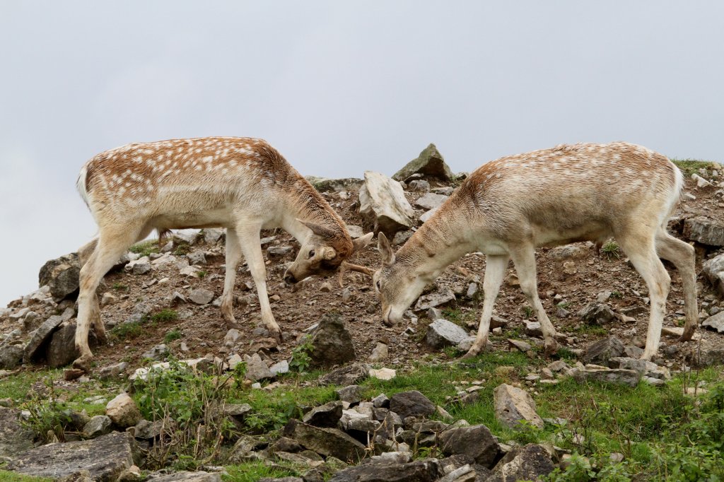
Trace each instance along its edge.
<instances>
[{"instance_id":1,"label":"pale hind legs of the left deer, below its belly","mask_svg":"<svg viewBox=\"0 0 724 482\"><path fill-rule=\"evenodd\" d=\"M148 235L148 232L146 232L146 235ZM98 237L95 249L88 256L88 261L80 269L78 317L75 328L75 348L80 352L80 357L73 362L75 368L88 371L90 360L93 360L93 352L88 347L90 324L93 323L96 331L98 331L98 326L101 326L99 337L104 337L106 332L101 321L100 308L98 308L96 288L103 276L118 261L118 258L125 253L125 250L135 240L138 240L140 234L140 228L133 229L127 226L101 229L101 235ZM143 237L146 237L146 235Z\"/></svg>"}]
</instances>

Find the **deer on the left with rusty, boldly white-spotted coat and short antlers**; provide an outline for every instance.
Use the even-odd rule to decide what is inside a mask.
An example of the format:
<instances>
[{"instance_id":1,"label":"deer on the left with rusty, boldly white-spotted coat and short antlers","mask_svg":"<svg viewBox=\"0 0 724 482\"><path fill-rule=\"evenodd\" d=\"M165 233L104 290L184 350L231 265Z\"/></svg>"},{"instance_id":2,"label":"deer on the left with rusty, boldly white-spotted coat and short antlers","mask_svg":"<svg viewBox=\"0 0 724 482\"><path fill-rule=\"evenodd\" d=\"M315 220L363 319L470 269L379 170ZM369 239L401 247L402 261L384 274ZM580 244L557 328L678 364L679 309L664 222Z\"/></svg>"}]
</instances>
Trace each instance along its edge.
<instances>
[{"instance_id":1,"label":"deer on the left with rusty, boldly white-spotted coat and short antlers","mask_svg":"<svg viewBox=\"0 0 724 482\"><path fill-rule=\"evenodd\" d=\"M269 143L256 138L173 139L131 143L91 158L80 169L77 190L98 224L98 236L79 250L80 290L73 366L88 371L90 324L106 342L96 289L127 249L155 229L226 228L226 274L221 312L238 328L233 288L243 255L261 308L261 320L281 342L266 290L261 229L280 227L300 243L284 279L344 270L371 274L348 263L374 233L352 240L345 222L326 200Z\"/></svg>"}]
</instances>

